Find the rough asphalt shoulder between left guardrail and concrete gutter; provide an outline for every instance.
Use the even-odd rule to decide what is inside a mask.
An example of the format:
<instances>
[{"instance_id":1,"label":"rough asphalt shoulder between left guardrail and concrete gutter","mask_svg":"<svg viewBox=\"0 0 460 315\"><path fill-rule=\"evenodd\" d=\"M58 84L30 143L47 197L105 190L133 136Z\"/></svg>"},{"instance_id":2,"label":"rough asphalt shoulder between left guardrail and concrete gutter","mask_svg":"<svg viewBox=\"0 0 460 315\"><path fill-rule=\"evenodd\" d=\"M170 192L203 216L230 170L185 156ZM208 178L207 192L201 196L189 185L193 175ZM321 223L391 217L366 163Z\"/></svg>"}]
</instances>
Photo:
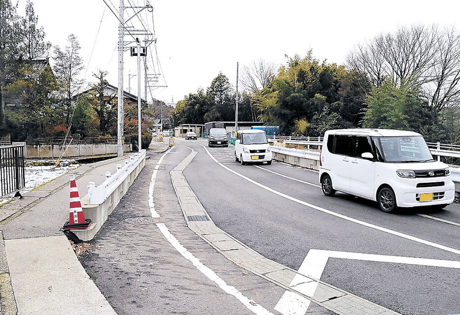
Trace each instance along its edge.
<instances>
[{"instance_id":1,"label":"rough asphalt shoulder between left guardrail and concrete gutter","mask_svg":"<svg viewBox=\"0 0 460 315\"><path fill-rule=\"evenodd\" d=\"M279 314L273 308L283 288L235 265L187 227L169 172L190 152L176 146L165 155L154 190L160 218L154 220L148 204L149 184L162 154L148 152L144 169L91 241L90 249L79 257L80 262L119 315L254 314L181 256L155 224L162 223L228 285ZM312 303L307 314L333 313Z\"/></svg>"}]
</instances>

